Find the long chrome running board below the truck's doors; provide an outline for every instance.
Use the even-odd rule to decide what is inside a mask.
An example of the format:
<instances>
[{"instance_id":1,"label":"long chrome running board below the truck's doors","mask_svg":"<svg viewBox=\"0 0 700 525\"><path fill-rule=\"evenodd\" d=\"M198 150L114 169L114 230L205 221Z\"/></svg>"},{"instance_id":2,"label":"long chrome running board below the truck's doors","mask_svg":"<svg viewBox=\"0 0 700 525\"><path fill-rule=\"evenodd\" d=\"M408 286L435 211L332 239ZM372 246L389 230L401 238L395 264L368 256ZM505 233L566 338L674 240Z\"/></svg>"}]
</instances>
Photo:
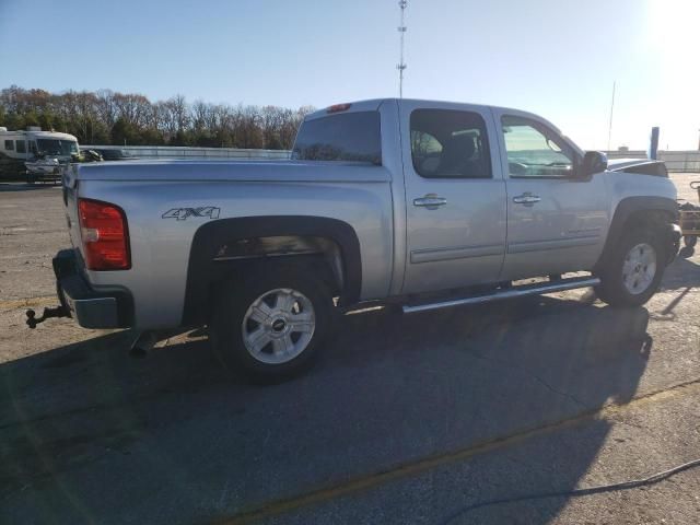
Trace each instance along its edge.
<instances>
[{"instance_id":1,"label":"long chrome running board below the truck's doors","mask_svg":"<svg viewBox=\"0 0 700 525\"><path fill-rule=\"evenodd\" d=\"M404 313L415 314L417 312L451 308L453 306L462 306L464 304L490 303L491 301L500 301L502 299L524 298L526 295L540 295L542 293L563 292L564 290L597 287L598 284L600 284L600 279L596 277L578 277L545 283L536 282L535 284L524 284L522 287L497 290L495 292L486 293L482 295L472 295L470 298L453 299L450 301L441 301L438 303L425 303L416 305L406 304L404 305Z\"/></svg>"}]
</instances>

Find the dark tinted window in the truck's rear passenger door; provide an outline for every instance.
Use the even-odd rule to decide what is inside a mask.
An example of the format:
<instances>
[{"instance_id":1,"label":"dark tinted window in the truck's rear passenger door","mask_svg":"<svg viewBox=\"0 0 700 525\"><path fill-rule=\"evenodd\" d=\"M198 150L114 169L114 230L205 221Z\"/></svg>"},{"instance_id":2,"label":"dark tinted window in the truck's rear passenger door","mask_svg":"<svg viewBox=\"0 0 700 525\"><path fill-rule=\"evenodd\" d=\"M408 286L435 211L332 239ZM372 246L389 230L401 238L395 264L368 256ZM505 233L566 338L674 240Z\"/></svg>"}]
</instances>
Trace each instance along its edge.
<instances>
[{"instance_id":1,"label":"dark tinted window in the truck's rear passenger door","mask_svg":"<svg viewBox=\"0 0 700 525\"><path fill-rule=\"evenodd\" d=\"M453 109L411 113L413 168L425 178L491 178L491 158L481 115Z\"/></svg>"}]
</instances>

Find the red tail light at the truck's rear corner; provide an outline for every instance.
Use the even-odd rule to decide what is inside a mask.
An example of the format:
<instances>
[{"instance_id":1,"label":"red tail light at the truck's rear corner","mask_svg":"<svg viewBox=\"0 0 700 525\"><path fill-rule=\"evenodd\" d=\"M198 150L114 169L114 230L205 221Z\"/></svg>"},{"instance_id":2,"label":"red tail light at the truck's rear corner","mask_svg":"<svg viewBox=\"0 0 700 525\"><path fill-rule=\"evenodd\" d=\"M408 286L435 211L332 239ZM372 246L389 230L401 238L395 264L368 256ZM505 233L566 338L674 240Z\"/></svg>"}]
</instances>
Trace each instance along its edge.
<instances>
[{"instance_id":1,"label":"red tail light at the truck's rear corner","mask_svg":"<svg viewBox=\"0 0 700 525\"><path fill-rule=\"evenodd\" d=\"M98 200L79 199L80 234L90 270L131 268L129 231L121 208Z\"/></svg>"}]
</instances>

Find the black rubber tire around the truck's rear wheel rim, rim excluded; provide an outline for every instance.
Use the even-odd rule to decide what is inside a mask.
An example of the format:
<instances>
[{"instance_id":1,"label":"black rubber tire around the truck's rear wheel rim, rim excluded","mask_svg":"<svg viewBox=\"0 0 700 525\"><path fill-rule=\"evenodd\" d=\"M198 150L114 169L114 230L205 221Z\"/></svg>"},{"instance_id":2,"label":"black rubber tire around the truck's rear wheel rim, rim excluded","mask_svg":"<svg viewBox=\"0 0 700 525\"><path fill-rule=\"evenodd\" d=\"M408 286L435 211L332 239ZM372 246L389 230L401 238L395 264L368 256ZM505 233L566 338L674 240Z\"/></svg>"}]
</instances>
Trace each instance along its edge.
<instances>
[{"instance_id":1,"label":"black rubber tire around the truck's rear wheel rim, rim excluded","mask_svg":"<svg viewBox=\"0 0 700 525\"><path fill-rule=\"evenodd\" d=\"M315 361L320 343L331 328L335 311L330 289L322 276L323 272L313 271L313 266L302 268L292 264L277 264L265 265L250 273L241 276L242 278L225 281L218 293L210 337L214 353L226 371L242 375L253 383L276 384L308 370ZM269 307L267 301L273 301L279 294L285 294L287 292L283 290L292 290L301 294L300 301L294 303L293 308L301 310L302 304L307 304L307 302L311 304L314 317L313 332L308 342L303 345L300 341L306 337L304 334L289 334L289 340L292 341L294 348L296 345L303 346L303 350L293 359L280 363L264 362L246 347L244 330L250 336L255 329L265 328L262 324L248 318L248 308L254 303L259 304L256 301L260 298L265 298L262 301ZM273 291L280 292L266 295ZM301 312L296 315L301 315ZM281 330L293 330L294 317L281 316L288 322L288 326ZM277 337L279 332L275 328L275 319L272 316L269 318L271 320L266 325L267 330ZM244 319L247 319L245 327ZM283 322L281 324L283 326ZM296 341L293 340L295 336L298 337ZM277 359L273 349L275 342L270 340L265 349L258 351L258 355L264 359ZM269 353L270 357L265 355L266 353ZM294 351L290 353L294 354Z\"/></svg>"}]
</instances>

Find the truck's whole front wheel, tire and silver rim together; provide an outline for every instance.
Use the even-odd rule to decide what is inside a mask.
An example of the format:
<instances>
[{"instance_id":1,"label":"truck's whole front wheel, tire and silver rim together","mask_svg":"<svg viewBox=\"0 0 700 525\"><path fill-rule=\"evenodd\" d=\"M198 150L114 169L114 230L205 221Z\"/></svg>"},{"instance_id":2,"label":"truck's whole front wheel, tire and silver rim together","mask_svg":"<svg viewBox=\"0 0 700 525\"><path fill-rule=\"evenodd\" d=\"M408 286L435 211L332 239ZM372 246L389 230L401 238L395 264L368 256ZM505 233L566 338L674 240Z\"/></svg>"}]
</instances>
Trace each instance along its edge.
<instances>
[{"instance_id":1,"label":"truck's whole front wheel, tire and silver rim together","mask_svg":"<svg viewBox=\"0 0 700 525\"><path fill-rule=\"evenodd\" d=\"M661 283L666 255L653 230L633 230L600 271L598 298L611 306L641 306Z\"/></svg>"}]
</instances>

